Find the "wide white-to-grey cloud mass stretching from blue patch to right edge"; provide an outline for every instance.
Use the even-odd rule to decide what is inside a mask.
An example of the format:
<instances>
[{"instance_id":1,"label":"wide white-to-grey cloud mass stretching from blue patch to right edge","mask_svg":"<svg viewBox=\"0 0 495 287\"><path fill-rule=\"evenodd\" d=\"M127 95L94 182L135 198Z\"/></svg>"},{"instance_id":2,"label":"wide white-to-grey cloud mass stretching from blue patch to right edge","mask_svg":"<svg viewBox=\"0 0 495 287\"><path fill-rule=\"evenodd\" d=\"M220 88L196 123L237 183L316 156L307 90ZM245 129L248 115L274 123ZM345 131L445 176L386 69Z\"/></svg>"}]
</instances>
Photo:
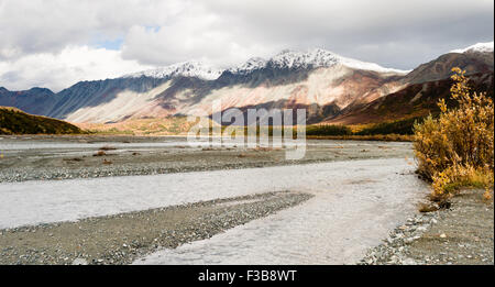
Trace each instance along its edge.
<instances>
[{"instance_id":1,"label":"wide white-to-grey cloud mass stretching from blue patch to right edge","mask_svg":"<svg viewBox=\"0 0 495 287\"><path fill-rule=\"evenodd\" d=\"M410 69L451 47L490 41L494 31L490 0L188 3L160 30L131 29L123 56L155 65L189 58L229 65L282 48L323 47Z\"/></svg>"}]
</instances>

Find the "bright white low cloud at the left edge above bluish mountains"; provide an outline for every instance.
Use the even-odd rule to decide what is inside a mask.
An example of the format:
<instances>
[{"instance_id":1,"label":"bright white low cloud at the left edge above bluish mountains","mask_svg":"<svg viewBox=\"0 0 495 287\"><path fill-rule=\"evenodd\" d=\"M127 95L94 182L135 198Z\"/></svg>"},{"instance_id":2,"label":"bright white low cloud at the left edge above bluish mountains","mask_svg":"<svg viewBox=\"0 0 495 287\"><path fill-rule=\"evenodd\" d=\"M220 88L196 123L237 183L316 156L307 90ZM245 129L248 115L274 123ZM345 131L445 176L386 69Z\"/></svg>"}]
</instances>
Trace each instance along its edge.
<instances>
[{"instance_id":1,"label":"bright white low cloud at the left edge above bluish mountains","mask_svg":"<svg viewBox=\"0 0 495 287\"><path fill-rule=\"evenodd\" d=\"M123 59L120 51L69 46L56 54L37 53L0 62L0 86L10 90L46 87L54 91L80 80L106 79L148 69Z\"/></svg>"}]
</instances>

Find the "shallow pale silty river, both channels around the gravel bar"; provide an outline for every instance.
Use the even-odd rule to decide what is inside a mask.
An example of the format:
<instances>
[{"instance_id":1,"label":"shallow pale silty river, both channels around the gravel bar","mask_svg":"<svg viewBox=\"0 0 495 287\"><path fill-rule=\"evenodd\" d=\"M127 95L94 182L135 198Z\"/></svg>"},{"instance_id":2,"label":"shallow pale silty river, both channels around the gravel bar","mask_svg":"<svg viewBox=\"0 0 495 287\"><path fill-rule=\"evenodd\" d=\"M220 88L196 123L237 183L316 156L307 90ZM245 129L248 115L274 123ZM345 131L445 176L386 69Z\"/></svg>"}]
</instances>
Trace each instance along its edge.
<instances>
[{"instance_id":1,"label":"shallow pale silty river, both channels around the gravel bar","mask_svg":"<svg viewBox=\"0 0 495 287\"><path fill-rule=\"evenodd\" d=\"M404 158L0 184L0 229L295 190L314 198L135 264L352 264L416 212L428 186Z\"/></svg>"}]
</instances>

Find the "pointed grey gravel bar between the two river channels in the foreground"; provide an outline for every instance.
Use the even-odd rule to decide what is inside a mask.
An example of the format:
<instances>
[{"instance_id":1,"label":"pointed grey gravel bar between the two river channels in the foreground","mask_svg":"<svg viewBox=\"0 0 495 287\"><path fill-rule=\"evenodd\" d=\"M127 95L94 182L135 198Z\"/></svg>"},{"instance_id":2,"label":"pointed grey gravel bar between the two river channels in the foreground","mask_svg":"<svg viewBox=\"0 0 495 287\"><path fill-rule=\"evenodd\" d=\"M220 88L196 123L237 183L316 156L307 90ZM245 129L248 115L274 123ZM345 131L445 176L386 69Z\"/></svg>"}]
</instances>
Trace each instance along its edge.
<instances>
[{"instance_id":1,"label":"pointed grey gravel bar between the two river channels in the foreground","mask_svg":"<svg viewBox=\"0 0 495 287\"><path fill-rule=\"evenodd\" d=\"M129 264L294 207L311 195L278 191L109 217L0 230L1 264Z\"/></svg>"}]
</instances>

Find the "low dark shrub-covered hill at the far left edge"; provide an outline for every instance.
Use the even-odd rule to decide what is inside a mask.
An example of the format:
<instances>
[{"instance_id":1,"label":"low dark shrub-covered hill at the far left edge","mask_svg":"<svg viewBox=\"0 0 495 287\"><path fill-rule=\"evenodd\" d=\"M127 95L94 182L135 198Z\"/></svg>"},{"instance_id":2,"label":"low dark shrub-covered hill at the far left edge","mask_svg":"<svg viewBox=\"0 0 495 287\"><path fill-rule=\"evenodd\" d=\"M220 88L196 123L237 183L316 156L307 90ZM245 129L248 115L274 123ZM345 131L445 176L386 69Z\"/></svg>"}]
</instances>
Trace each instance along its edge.
<instances>
[{"instance_id":1,"label":"low dark shrub-covered hill at the far left edge","mask_svg":"<svg viewBox=\"0 0 495 287\"><path fill-rule=\"evenodd\" d=\"M82 131L68 122L28 114L0 107L0 134L77 134Z\"/></svg>"}]
</instances>

